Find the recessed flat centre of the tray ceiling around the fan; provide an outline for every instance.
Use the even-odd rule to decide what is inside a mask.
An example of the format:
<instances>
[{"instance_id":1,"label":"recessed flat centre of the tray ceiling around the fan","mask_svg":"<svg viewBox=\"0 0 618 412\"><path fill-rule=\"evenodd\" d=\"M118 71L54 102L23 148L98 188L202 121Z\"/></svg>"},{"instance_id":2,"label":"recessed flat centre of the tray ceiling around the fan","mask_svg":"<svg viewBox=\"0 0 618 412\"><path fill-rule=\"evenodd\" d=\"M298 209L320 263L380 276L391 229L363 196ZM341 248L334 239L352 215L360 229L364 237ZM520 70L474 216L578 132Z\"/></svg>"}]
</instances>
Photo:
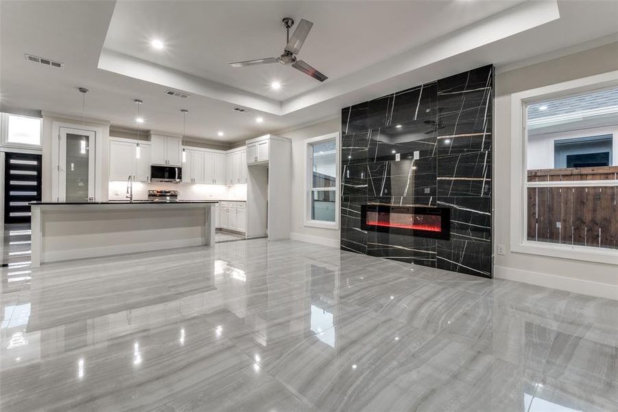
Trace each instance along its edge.
<instances>
[{"instance_id":1,"label":"recessed flat centre of the tray ceiling around the fan","mask_svg":"<svg viewBox=\"0 0 618 412\"><path fill-rule=\"evenodd\" d=\"M299 56L332 81L521 1L121 1L104 47L283 101L320 82L280 64L228 65L279 56L283 17L313 22ZM153 38L165 49L150 47ZM273 91L273 80L283 87Z\"/></svg>"}]
</instances>

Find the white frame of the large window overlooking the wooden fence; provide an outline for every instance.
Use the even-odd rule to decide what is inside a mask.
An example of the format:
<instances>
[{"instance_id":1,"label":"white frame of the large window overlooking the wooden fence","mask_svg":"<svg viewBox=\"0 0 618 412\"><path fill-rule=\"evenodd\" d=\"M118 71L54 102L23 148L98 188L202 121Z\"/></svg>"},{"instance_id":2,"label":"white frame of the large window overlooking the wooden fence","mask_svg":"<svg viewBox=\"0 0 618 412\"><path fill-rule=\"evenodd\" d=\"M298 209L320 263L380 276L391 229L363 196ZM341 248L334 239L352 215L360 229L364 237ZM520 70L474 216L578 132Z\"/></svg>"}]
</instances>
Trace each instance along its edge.
<instances>
[{"instance_id":1,"label":"white frame of the large window overlooking the wooden fence","mask_svg":"<svg viewBox=\"0 0 618 412\"><path fill-rule=\"evenodd\" d=\"M511 95L511 209L510 251L551 258L618 265L618 249L553 244L527 240L527 106L549 99L618 86L618 71L552 84ZM586 130L582 130L586 132ZM616 137L616 135L614 135ZM614 141L614 148L617 142ZM552 149L553 155L553 149ZM615 157L617 152L613 153ZM553 160L552 160L553 163ZM563 182L533 182L535 187L558 187ZM617 181L573 181L569 186L615 186Z\"/></svg>"}]
</instances>

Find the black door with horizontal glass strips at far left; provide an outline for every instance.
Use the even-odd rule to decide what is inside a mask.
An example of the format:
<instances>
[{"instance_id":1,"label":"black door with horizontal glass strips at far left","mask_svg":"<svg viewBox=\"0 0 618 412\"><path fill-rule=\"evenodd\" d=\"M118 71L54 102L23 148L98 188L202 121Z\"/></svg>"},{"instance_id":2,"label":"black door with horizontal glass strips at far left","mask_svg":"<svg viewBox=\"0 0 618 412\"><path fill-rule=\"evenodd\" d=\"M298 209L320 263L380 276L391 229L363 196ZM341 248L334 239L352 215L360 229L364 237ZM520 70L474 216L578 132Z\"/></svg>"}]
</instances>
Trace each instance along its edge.
<instances>
[{"instance_id":1,"label":"black door with horizontal glass strips at far left","mask_svg":"<svg viewBox=\"0 0 618 412\"><path fill-rule=\"evenodd\" d=\"M41 155L5 153L4 222L29 223L29 202L40 201Z\"/></svg>"}]
</instances>

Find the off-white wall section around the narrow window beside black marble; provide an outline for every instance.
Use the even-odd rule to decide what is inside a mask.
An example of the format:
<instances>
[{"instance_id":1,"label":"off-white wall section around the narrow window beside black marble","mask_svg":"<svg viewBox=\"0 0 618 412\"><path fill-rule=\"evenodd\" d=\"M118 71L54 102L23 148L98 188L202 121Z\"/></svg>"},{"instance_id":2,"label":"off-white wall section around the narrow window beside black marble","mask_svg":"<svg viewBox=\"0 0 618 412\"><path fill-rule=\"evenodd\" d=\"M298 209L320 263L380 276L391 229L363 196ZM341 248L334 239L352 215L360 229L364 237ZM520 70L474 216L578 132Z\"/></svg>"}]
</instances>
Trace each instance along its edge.
<instances>
[{"instance_id":1,"label":"off-white wall section around the narrow window beside black marble","mask_svg":"<svg viewBox=\"0 0 618 412\"><path fill-rule=\"evenodd\" d=\"M284 133L276 133L278 136L292 139L292 220L290 222L292 239L306 240L308 242L322 242L337 246L340 242L340 230L323 229L320 227L305 226L305 145L306 139L328 135L329 133L339 133L341 129L341 119L337 116L334 119L305 126L296 130Z\"/></svg>"}]
</instances>

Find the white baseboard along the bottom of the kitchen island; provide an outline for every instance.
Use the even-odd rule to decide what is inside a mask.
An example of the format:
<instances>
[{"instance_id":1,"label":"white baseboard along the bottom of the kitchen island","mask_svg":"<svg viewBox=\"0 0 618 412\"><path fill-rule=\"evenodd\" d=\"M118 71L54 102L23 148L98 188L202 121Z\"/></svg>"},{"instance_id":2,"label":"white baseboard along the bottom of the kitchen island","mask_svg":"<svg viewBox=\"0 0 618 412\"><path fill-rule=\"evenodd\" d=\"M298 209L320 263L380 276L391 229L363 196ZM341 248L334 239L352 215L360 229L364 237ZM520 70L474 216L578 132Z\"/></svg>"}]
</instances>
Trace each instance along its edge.
<instances>
[{"instance_id":1,"label":"white baseboard along the bottom of the kitchen island","mask_svg":"<svg viewBox=\"0 0 618 412\"><path fill-rule=\"evenodd\" d=\"M147 242L135 244L118 244L114 246L91 247L84 249L71 249L69 251L49 251L43 253L43 262L58 262L61 260L101 258L102 256L122 255L125 253L139 253L148 251L160 251L176 249L179 247L192 247L206 244L204 238L163 240L162 242Z\"/></svg>"}]
</instances>

